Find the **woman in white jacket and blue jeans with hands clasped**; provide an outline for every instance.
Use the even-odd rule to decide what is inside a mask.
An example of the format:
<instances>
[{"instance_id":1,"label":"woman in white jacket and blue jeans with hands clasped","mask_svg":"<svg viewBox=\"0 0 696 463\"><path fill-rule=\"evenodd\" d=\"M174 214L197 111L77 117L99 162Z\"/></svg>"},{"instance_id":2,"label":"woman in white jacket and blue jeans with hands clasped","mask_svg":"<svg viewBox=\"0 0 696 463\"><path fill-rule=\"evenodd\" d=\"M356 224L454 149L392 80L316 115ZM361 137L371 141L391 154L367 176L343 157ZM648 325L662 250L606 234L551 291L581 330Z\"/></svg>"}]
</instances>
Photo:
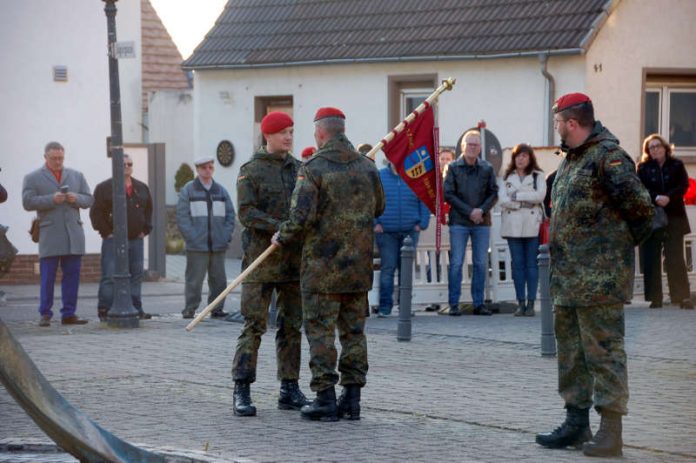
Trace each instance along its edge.
<instances>
[{"instance_id":1,"label":"woman in white jacket and blue jeans with hands clasped","mask_svg":"<svg viewBox=\"0 0 696 463\"><path fill-rule=\"evenodd\" d=\"M502 217L500 234L510 247L512 280L518 303L516 317L534 316L539 283L539 225L544 219L542 202L545 195L546 181L534 150L520 143L512 149L512 159L498 190Z\"/></svg>"}]
</instances>

